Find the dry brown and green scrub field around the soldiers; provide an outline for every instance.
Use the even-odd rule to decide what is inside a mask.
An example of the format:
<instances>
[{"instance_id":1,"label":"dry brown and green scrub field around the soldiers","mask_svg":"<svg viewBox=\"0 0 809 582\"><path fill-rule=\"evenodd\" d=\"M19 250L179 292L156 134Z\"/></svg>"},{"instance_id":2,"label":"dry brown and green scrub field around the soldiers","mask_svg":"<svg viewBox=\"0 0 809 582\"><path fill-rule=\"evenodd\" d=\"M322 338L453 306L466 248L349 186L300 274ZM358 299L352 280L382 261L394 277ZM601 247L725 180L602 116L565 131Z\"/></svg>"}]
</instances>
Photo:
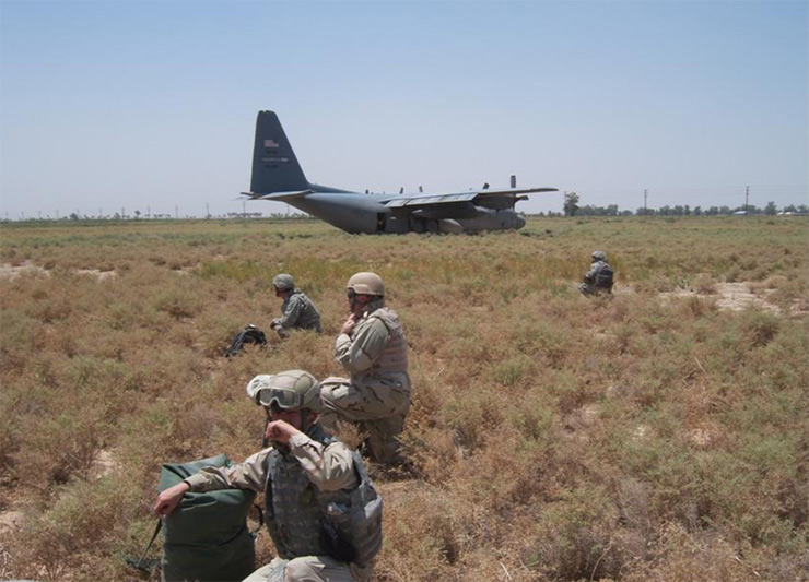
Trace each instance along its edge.
<instances>
[{"instance_id":1,"label":"dry brown and green scrub field around the soldiers","mask_svg":"<svg viewBox=\"0 0 809 582\"><path fill-rule=\"evenodd\" d=\"M377 479L375 580L807 580L808 231L742 216L398 237L3 224L0 579L141 580L124 557L154 527L161 464L258 450L245 384L340 373L344 284L373 270L410 344L417 473ZM574 288L596 249L612 298ZM324 335L222 357L278 313L278 272Z\"/></svg>"}]
</instances>

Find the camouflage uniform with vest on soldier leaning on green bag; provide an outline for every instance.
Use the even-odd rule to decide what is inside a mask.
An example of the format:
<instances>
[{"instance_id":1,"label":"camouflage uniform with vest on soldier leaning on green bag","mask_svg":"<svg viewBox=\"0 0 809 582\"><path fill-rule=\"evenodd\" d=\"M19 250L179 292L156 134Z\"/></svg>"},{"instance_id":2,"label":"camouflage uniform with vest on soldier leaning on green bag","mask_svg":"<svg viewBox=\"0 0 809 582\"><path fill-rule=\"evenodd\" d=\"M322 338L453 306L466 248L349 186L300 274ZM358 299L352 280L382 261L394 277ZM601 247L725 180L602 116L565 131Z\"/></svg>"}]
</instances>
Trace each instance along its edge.
<instances>
[{"instance_id":1,"label":"camouflage uniform with vest on soldier leaning on green bag","mask_svg":"<svg viewBox=\"0 0 809 582\"><path fill-rule=\"evenodd\" d=\"M273 463L270 459L275 456ZM272 466L272 474L268 467ZM320 542L323 501L359 485L351 451L327 437L318 424L292 437L289 452L265 449L231 467L206 467L185 479L192 491L250 489L265 492L267 527L279 557L244 582L367 580L373 565L331 558ZM314 487L313 487L314 486ZM270 489L271 488L271 489Z\"/></svg>"}]
</instances>

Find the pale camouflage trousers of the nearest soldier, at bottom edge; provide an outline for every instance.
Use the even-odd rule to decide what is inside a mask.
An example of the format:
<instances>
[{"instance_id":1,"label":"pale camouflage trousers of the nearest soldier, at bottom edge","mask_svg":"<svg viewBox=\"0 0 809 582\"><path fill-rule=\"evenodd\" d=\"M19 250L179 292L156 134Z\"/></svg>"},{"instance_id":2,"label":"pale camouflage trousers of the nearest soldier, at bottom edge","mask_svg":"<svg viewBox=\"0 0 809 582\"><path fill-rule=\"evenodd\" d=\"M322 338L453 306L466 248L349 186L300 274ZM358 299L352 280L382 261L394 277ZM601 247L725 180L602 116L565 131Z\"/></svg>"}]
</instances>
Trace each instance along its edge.
<instances>
[{"instance_id":1,"label":"pale camouflage trousers of the nearest soldier, at bottom edge","mask_svg":"<svg viewBox=\"0 0 809 582\"><path fill-rule=\"evenodd\" d=\"M243 582L357 582L368 575L329 556L303 556L293 560L275 558Z\"/></svg>"}]
</instances>

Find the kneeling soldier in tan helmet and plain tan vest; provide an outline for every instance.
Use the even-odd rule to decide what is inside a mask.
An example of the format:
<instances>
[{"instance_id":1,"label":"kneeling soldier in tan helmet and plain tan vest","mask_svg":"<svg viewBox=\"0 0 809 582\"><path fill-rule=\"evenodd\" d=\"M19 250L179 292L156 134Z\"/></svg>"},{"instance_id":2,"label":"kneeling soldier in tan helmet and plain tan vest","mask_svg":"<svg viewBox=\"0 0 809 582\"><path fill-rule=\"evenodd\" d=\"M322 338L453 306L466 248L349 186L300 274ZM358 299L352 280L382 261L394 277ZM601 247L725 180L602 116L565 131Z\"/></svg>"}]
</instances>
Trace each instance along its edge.
<instances>
[{"instance_id":1,"label":"kneeling soldier in tan helmet and plain tan vest","mask_svg":"<svg viewBox=\"0 0 809 582\"><path fill-rule=\"evenodd\" d=\"M399 316L385 307L385 284L375 273L356 273L347 285L349 318L335 344L335 359L351 378L323 381L321 421L335 431L337 419L367 430L368 453L383 464L402 463L398 436L410 409L408 346Z\"/></svg>"}]
</instances>

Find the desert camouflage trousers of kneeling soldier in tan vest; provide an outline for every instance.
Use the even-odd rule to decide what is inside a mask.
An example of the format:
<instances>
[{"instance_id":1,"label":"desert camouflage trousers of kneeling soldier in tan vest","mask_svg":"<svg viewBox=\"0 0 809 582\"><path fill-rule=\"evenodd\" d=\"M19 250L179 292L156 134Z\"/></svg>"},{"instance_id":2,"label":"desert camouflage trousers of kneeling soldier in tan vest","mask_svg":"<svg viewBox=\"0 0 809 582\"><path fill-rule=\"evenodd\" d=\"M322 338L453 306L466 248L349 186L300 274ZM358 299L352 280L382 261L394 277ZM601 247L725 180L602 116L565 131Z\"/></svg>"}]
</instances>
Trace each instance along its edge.
<instances>
[{"instance_id":1,"label":"desert camouflage trousers of kneeling soldier in tan vest","mask_svg":"<svg viewBox=\"0 0 809 582\"><path fill-rule=\"evenodd\" d=\"M371 460L396 461L399 435L410 411L410 392L383 384L360 385L348 378L331 377L320 383L320 425L335 433L337 420L356 423L368 433Z\"/></svg>"}]
</instances>

